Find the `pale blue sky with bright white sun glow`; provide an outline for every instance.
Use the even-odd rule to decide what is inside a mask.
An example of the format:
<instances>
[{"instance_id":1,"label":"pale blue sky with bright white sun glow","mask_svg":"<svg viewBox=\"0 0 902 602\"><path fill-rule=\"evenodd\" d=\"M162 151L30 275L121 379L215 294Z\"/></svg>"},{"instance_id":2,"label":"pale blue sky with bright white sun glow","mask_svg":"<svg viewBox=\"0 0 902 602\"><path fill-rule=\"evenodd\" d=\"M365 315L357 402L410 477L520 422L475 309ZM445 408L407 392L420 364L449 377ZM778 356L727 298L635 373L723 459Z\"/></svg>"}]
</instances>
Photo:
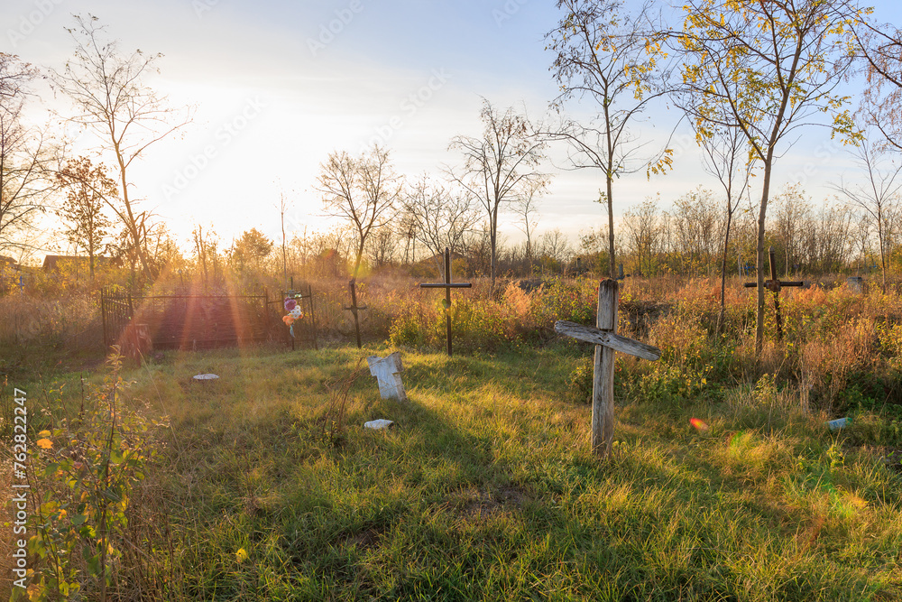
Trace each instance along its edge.
<instances>
[{"instance_id":1,"label":"pale blue sky with bright white sun glow","mask_svg":"<svg viewBox=\"0 0 902 602\"><path fill-rule=\"evenodd\" d=\"M159 73L145 84L171 107L190 107L191 123L153 144L131 174L141 207L186 247L195 225L212 227L226 245L251 227L279 239L281 195L290 233L329 227L315 190L328 153L379 143L399 173L438 176L461 161L447 151L451 138L482 132L483 98L539 118L558 93L544 41L560 16L552 0L5 0L0 51L62 69L74 49L65 30L72 14L99 17L124 53L161 52ZM889 2L878 3L877 14L902 20ZM32 110L72 114L65 98L46 89L40 96ZM593 108L572 111L587 116ZM663 143L678 119L661 103L637 133ZM73 134L77 150L97 147L93 134ZM774 183L802 181L816 202L832 196L840 175L854 178L853 164L825 128L802 134L778 161ZM672 145L666 176L649 180L643 170L615 182L616 216L656 193L667 208L698 185L719 191L687 125ZM546 165L554 179L539 204L538 234L559 227L575 237L606 223L594 202L603 175L562 169L563 151L552 148ZM522 238L515 219L500 225L511 242Z\"/></svg>"}]
</instances>

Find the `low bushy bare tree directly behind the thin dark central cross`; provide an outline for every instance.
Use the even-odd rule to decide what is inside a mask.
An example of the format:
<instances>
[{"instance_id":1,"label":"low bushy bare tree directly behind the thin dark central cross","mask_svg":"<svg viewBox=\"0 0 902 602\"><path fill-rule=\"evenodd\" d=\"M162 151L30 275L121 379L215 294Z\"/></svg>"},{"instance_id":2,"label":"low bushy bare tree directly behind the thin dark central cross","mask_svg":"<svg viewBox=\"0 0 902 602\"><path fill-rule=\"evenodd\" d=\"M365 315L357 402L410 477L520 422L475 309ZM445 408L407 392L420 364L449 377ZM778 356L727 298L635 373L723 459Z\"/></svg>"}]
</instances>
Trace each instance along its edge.
<instances>
[{"instance_id":1,"label":"low bushy bare tree directly behind the thin dark central cross","mask_svg":"<svg viewBox=\"0 0 902 602\"><path fill-rule=\"evenodd\" d=\"M469 192L446 189L425 174L404 190L401 204L409 220L406 227L426 246L439 269L443 249L460 253L466 233L479 221Z\"/></svg>"}]
</instances>

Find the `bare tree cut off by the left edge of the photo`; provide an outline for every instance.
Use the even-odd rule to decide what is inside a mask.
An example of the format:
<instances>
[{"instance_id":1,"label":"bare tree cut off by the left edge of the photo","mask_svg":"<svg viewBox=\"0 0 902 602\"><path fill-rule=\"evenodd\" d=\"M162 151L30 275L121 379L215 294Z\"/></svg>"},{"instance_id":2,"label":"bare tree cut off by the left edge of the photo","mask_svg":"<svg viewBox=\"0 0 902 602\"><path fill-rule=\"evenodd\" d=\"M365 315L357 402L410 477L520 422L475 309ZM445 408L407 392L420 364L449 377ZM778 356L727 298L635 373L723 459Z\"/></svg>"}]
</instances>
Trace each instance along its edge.
<instances>
[{"instance_id":1,"label":"bare tree cut off by the left edge of the photo","mask_svg":"<svg viewBox=\"0 0 902 602\"><path fill-rule=\"evenodd\" d=\"M0 52L0 251L28 246L33 220L58 185L47 136L23 123L27 86L36 73Z\"/></svg>"}]
</instances>

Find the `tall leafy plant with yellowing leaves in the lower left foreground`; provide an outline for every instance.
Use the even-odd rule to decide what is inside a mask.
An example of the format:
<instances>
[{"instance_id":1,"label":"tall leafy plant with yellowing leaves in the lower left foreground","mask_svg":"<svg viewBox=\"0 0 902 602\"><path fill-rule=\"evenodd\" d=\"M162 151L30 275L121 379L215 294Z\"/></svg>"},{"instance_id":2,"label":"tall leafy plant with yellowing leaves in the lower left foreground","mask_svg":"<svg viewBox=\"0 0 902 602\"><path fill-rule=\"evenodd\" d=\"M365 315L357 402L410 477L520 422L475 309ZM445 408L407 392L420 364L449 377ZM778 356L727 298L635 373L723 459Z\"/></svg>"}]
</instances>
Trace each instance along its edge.
<instances>
[{"instance_id":1,"label":"tall leafy plant with yellowing leaves in the lower left foreground","mask_svg":"<svg viewBox=\"0 0 902 602\"><path fill-rule=\"evenodd\" d=\"M70 599L87 588L110 599L109 589L124 573L133 493L160 447L152 427L166 422L125 406L130 383L120 375L118 350L106 364L102 386L89 394L78 419L41 431L30 451L38 477L31 489L31 600Z\"/></svg>"}]
</instances>

